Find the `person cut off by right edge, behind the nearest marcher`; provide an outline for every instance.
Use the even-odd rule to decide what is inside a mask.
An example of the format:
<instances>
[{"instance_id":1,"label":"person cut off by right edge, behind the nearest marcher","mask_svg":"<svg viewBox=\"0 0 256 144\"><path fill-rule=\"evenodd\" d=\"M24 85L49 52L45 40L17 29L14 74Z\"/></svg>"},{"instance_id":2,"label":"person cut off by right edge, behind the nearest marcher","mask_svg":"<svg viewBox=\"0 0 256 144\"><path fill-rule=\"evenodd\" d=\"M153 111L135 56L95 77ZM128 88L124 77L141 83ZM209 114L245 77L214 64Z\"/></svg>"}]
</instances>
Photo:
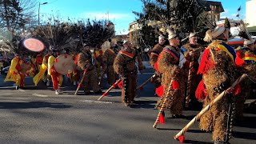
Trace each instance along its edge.
<instances>
[{"instance_id":1,"label":"person cut off by right edge, behind the nearest marcher","mask_svg":"<svg viewBox=\"0 0 256 144\"><path fill-rule=\"evenodd\" d=\"M249 74L250 77L256 78L256 41L254 39L245 40L244 47L242 49L236 50L236 64L238 65L238 69L240 71L239 74ZM250 78L246 78L243 82L241 82L242 90L241 94L235 98L236 101L236 119L241 121L243 118L243 108L244 102L246 102L246 98L249 98L250 92L252 90L253 82Z\"/></svg>"}]
</instances>

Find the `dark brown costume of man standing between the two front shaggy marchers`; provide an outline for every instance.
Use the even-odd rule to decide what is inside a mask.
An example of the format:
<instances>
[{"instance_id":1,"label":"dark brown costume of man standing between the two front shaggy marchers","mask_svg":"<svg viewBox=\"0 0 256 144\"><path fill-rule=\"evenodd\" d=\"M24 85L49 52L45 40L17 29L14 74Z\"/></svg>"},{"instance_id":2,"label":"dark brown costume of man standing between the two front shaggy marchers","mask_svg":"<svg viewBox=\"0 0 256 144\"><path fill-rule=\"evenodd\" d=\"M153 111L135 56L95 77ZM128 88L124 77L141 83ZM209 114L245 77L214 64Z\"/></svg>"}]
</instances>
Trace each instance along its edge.
<instances>
[{"instance_id":1,"label":"dark brown costume of man standing between the two front shaggy marchers","mask_svg":"<svg viewBox=\"0 0 256 144\"><path fill-rule=\"evenodd\" d=\"M202 54L202 51L204 50L204 47L200 45L191 45L190 43L187 43L186 45L183 45L182 48L186 50L184 52L186 62L183 66L184 72L185 72L185 78L186 78L186 85L187 85L187 78L189 75L189 70L190 70L190 62L193 62L193 69L191 70L192 75L191 75L191 86L190 86L190 99L192 103L196 102L196 98L194 96L195 90L198 87L199 82L202 80L202 75L197 74L198 71L198 66L199 66L199 58ZM190 51L194 52L194 57L190 56ZM187 95L186 95L187 96Z\"/></svg>"}]
</instances>

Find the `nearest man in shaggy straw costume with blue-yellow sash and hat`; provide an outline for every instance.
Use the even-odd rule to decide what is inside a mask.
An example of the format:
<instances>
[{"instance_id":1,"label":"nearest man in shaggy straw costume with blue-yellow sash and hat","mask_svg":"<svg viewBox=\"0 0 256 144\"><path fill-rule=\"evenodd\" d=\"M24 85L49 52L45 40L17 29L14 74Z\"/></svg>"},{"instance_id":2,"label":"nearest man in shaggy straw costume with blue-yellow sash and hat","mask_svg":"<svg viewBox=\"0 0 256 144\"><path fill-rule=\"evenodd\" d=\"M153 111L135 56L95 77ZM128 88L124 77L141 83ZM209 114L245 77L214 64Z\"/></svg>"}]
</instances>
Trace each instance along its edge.
<instances>
[{"instance_id":1,"label":"nearest man in shaggy straw costume with blue-yellow sash and hat","mask_svg":"<svg viewBox=\"0 0 256 144\"><path fill-rule=\"evenodd\" d=\"M225 24L226 26L226 24ZM216 102L202 118L200 118L199 127L204 131L212 131L214 143L226 143L230 138L230 125L232 118L228 122L229 106L233 104L234 94L228 89L235 76L235 58L234 48L226 44L229 38L229 25L217 26L213 30L207 30L204 41L211 42L202 54L202 60L199 64L198 74L202 74L202 81L196 90L196 98L203 102L203 107L207 106L222 91L226 90L226 95L221 101ZM238 93L238 90L235 93ZM233 108L231 108L233 110Z\"/></svg>"}]
</instances>

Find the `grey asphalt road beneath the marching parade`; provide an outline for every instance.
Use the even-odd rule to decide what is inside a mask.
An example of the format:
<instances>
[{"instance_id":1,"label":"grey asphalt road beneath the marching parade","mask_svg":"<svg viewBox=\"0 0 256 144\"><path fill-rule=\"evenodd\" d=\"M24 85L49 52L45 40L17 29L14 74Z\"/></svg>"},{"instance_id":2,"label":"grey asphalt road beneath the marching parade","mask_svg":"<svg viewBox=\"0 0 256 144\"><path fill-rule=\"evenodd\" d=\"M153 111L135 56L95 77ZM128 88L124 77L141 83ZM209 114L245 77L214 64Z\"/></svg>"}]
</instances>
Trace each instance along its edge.
<instances>
[{"instance_id":1,"label":"grey asphalt road beneath the marching parade","mask_svg":"<svg viewBox=\"0 0 256 144\"><path fill-rule=\"evenodd\" d=\"M151 75L140 74L138 84ZM97 101L101 95L83 95L82 90L74 95L76 86L67 79L59 95L43 83L33 86L31 78L26 78L26 90L14 90L13 82L2 81L0 76L0 143L178 143L174 135L198 114L185 110L186 118L174 119L166 111L166 123L154 129L158 98L152 83L138 91L136 104L126 107L118 89ZM230 143L256 143L254 110L246 109L244 121L235 124ZM213 143L198 123L185 136L186 143Z\"/></svg>"}]
</instances>

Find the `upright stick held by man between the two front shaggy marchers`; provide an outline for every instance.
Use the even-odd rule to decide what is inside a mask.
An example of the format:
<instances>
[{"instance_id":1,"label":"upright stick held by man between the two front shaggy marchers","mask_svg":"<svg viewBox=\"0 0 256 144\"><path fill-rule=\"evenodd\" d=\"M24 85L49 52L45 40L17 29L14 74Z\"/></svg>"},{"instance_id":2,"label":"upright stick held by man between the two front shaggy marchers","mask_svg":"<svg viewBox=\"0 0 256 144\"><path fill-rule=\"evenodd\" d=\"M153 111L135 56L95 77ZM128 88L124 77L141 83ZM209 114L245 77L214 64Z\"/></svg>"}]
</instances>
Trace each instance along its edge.
<instances>
[{"instance_id":1,"label":"upright stick held by man between the two front shaggy marchers","mask_svg":"<svg viewBox=\"0 0 256 144\"><path fill-rule=\"evenodd\" d=\"M192 80L192 70L194 68L194 57L192 57L192 62L190 62L189 76L186 83L186 107L190 106L190 90L191 90L191 80Z\"/></svg>"}]
</instances>

